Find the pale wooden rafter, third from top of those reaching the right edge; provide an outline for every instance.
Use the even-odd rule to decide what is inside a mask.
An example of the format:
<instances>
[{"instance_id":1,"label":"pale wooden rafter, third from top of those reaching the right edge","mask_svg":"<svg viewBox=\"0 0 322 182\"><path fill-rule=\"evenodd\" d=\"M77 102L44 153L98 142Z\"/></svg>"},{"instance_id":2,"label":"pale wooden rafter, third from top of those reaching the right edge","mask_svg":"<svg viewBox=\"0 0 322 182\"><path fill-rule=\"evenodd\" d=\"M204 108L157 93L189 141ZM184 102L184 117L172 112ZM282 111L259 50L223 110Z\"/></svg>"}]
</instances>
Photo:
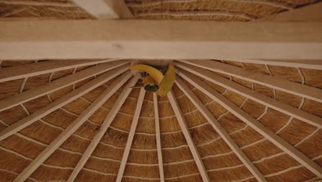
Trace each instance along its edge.
<instances>
[{"instance_id":1,"label":"pale wooden rafter, third from top of those reaching the right edge","mask_svg":"<svg viewBox=\"0 0 322 182\"><path fill-rule=\"evenodd\" d=\"M303 110L299 110L298 108L294 108L291 105L288 105L281 101L277 101L275 99L267 97L264 94L259 94L259 92L250 90L242 85L239 85L238 83L234 83L233 81L229 81L223 77L220 77L218 74L215 74L214 72L204 70L202 68L198 68L186 63L175 63L175 65L178 68L182 68L199 77L202 77L219 86L222 86L223 88L227 88L228 90L232 90L233 92L236 92L237 94L241 94L242 96L252 99L253 101L257 101L258 103L266 105L269 108L272 108L274 110L287 114L291 117L294 117L296 119L299 119L311 125L314 125L318 128L322 128L321 117L317 117L314 114L310 114Z\"/></svg>"}]
</instances>

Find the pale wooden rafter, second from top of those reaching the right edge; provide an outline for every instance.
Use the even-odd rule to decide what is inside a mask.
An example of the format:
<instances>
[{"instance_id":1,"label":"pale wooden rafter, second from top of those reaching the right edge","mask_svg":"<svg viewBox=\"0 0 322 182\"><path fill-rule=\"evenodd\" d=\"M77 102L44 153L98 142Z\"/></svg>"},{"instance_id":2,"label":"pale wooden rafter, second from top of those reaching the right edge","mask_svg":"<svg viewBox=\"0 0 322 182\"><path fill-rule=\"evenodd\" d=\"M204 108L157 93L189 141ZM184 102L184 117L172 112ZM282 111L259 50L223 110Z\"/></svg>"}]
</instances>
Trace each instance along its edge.
<instances>
[{"instance_id":1,"label":"pale wooden rafter, second from top of those reaching the right edge","mask_svg":"<svg viewBox=\"0 0 322 182\"><path fill-rule=\"evenodd\" d=\"M239 79L244 79L246 81L265 85L270 88L281 90L283 92L288 92L299 97L312 99L313 101L322 102L322 90L308 85L302 85L300 83L295 83L278 77L272 77L270 75L262 74L259 72L249 72L242 68L238 68L237 66L219 63L217 61L180 60L180 62L195 65L206 70L228 74Z\"/></svg>"}]
</instances>

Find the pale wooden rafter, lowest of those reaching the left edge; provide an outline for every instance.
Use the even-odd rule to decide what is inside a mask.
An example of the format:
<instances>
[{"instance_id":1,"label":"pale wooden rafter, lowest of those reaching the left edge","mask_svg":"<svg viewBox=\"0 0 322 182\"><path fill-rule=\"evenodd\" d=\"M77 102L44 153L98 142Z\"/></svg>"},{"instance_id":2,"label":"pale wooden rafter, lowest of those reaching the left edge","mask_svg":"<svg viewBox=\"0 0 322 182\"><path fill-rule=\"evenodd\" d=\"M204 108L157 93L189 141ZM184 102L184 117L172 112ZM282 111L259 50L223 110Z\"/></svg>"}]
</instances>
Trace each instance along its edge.
<instances>
[{"instance_id":1,"label":"pale wooden rafter, lowest of those reaching the left edge","mask_svg":"<svg viewBox=\"0 0 322 182\"><path fill-rule=\"evenodd\" d=\"M78 97L81 97L83 94L86 94L87 92L89 92L91 90L94 90L98 86L113 79L114 77L118 76L122 72L125 72L126 70L127 70L127 68L111 70L110 72L103 74L102 76L98 77L97 79L94 79L93 81L89 81L88 83L85 83L80 88L78 88L72 92L69 92L65 96L57 99L56 101L53 101L52 103L45 106L44 108L37 110L36 112L30 114L28 117L25 117L25 118L17 121L16 123L13 123L12 125L10 125L7 128L0 131L0 141L3 141L3 139L8 138L9 136L11 136L12 134L14 134L16 132L19 132L19 130L22 130L23 128L27 127L28 125L31 125L32 123L45 117L47 114L50 114L51 112L54 112L55 110L58 110L58 108L63 107L67 103L70 103L70 102L78 99ZM128 71L125 74L131 75L131 72Z\"/></svg>"}]
</instances>

